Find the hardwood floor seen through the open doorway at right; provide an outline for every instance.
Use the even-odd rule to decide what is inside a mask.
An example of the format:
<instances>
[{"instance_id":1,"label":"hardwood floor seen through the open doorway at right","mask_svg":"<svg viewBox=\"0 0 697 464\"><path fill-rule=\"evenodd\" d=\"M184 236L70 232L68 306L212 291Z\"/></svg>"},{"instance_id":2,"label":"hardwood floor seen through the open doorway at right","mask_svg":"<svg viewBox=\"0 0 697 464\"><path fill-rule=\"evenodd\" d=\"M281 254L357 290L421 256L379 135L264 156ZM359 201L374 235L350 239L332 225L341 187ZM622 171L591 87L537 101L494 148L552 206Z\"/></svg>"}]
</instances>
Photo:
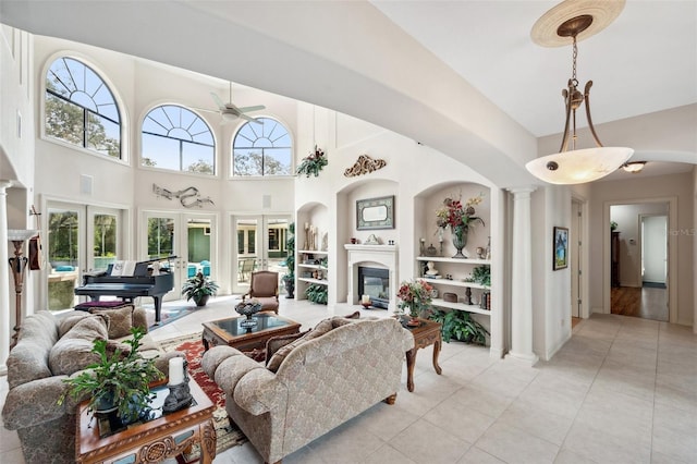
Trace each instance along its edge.
<instances>
[{"instance_id":1,"label":"hardwood floor seen through the open doorway at right","mask_svg":"<svg viewBox=\"0 0 697 464\"><path fill-rule=\"evenodd\" d=\"M668 321L665 289L615 286L612 289L612 314Z\"/></svg>"}]
</instances>

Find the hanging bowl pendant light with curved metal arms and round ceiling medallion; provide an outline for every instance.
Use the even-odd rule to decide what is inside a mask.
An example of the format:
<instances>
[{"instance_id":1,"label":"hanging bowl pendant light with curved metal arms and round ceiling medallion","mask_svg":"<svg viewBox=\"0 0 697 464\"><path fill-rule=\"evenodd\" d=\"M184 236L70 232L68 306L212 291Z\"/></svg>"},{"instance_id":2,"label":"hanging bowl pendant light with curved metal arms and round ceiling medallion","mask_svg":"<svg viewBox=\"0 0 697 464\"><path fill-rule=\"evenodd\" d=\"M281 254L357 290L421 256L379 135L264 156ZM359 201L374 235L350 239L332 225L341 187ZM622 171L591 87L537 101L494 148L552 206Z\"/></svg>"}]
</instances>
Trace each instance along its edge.
<instances>
[{"instance_id":1,"label":"hanging bowl pendant light with curved metal arms and round ceiling medallion","mask_svg":"<svg viewBox=\"0 0 697 464\"><path fill-rule=\"evenodd\" d=\"M588 81L584 91L577 88L576 58L577 40L583 40L608 26L624 8L625 0L566 0L540 17L530 33L533 40L545 47L573 45L572 76L567 88L562 90L566 108L564 136L558 154L529 161L525 167L536 178L551 184L580 184L596 181L617 170L629 159L634 150L626 147L603 147L590 119L590 87ZM576 149L576 109L585 105L588 129L596 148Z\"/></svg>"}]
</instances>

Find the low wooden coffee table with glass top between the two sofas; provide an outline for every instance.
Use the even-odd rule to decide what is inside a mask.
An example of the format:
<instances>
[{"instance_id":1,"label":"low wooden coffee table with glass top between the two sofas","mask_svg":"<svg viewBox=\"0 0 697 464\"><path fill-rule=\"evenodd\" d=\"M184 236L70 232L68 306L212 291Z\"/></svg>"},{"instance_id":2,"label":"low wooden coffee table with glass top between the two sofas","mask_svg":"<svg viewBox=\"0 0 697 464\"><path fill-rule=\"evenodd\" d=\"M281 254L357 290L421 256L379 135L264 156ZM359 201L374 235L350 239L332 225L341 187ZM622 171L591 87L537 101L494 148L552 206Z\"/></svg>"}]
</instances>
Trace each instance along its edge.
<instances>
[{"instance_id":1,"label":"low wooden coffee table with glass top between the two sofas","mask_svg":"<svg viewBox=\"0 0 697 464\"><path fill-rule=\"evenodd\" d=\"M242 321L246 319L244 316L204 322L204 349L228 345L240 351L252 351L265 347L271 337L290 335L301 330L298 322L273 312L258 313L253 317L257 325L248 329L242 327Z\"/></svg>"}]
</instances>

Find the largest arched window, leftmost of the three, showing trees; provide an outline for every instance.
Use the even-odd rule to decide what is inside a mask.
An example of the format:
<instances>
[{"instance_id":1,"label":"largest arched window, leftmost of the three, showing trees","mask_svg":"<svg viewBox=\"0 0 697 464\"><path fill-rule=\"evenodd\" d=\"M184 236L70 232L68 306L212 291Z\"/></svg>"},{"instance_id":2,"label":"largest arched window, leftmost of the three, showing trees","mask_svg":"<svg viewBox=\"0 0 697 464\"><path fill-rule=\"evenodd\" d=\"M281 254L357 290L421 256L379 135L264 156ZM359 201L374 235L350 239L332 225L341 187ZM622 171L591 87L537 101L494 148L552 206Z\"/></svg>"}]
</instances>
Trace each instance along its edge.
<instances>
[{"instance_id":1,"label":"largest arched window, leftmost of the three, showing trees","mask_svg":"<svg viewBox=\"0 0 697 464\"><path fill-rule=\"evenodd\" d=\"M46 74L46 135L121 158L119 107L85 63L62 57Z\"/></svg>"}]
</instances>

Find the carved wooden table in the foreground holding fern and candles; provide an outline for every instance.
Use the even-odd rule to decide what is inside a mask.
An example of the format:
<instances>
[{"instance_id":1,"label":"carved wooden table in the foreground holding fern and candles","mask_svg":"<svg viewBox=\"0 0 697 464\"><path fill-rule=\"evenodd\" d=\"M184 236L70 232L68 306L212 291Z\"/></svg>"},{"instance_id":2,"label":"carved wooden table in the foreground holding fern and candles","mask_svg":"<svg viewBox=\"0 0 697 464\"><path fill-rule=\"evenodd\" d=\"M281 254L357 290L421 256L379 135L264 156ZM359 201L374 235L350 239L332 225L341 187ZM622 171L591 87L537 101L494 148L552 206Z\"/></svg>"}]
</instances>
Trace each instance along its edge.
<instances>
[{"instance_id":1,"label":"carved wooden table in the foreground holding fern and candles","mask_svg":"<svg viewBox=\"0 0 697 464\"><path fill-rule=\"evenodd\" d=\"M77 463L160 462L182 454L192 444L200 445L200 462L209 464L216 457L216 429L212 414L216 406L193 379L188 387L194 404L156 419L129 426L105 438L99 437L97 420L87 413L87 401L77 408L75 461ZM151 389L155 404L162 404L169 394L167 386Z\"/></svg>"}]
</instances>

